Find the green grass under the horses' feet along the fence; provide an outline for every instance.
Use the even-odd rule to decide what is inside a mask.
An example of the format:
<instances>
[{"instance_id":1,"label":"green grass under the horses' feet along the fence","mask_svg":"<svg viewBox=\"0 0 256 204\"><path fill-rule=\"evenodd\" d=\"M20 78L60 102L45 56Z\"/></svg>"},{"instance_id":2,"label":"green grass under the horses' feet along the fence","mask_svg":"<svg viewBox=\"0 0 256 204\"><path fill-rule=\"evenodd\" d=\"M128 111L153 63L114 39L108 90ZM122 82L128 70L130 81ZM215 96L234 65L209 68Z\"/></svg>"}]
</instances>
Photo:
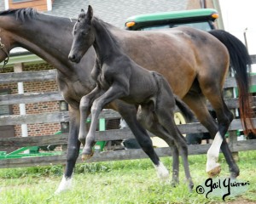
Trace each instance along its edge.
<instances>
[{"instance_id":1,"label":"green grass under the horses' feet along the fence","mask_svg":"<svg viewBox=\"0 0 256 204\"><path fill-rule=\"evenodd\" d=\"M249 181L242 195L228 196L225 203L256 203L256 151L239 153L240 180ZM161 158L172 167L172 158ZM190 172L195 187L207 179L206 156L189 156ZM220 156L222 177L229 169ZM176 188L156 178L152 163L147 160L109 161L79 164L74 173L73 190L54 195L61 181L62 167L29 167L0 169L1 204L73 204L73 203L222 203L222 198L206 198L189 193L180 167L180 184Z\"/></svg>"}]
</instances>

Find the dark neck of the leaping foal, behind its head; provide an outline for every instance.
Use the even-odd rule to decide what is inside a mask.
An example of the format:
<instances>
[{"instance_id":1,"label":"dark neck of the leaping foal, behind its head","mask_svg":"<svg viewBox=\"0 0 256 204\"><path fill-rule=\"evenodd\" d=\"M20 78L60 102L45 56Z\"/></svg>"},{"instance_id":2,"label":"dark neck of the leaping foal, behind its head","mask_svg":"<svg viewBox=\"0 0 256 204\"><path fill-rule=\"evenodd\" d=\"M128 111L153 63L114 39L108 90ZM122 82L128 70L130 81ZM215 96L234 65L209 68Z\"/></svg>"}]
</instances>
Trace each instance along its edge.
<instances>
[{"instance_id":1,"label":"dark neck of the leaping foal, behind its head","mask_svg":"<svg viewBox=\"0 0 256 204\"><path fill-rule=\"evenodd\" d=\"M92 25L95 29L96 38L93 47L95 48L97 58L103 63L104 60L109 59L110 56L119 52L119 46L109 31L107 23L94 18Z\"/></svg>"}]
</instances>

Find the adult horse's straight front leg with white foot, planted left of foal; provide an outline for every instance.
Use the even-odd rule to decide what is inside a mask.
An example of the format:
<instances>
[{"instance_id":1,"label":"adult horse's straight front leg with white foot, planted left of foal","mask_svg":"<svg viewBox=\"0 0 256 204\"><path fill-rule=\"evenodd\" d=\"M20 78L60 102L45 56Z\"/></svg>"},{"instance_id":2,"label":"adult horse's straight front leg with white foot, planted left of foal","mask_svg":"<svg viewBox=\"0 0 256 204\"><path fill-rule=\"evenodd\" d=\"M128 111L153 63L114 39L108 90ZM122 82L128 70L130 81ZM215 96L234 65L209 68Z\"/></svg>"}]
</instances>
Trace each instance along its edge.
<instances>
[{"instance_id":1,"label":"adult horse's straight front leg with white foot, planted left of foal","mask_svg":"<svg viewBox=\"0 0 256 204\"><path fill-rule=\"evenodd\" d=\"M61 179L61 184L59 184L58 189L55 191L55 194L61 193L64 190L69 190L72 188L72 176L75 163L79 157L79 148L80 142L78 139L79 136L79 108L74 109L71 106L69 110L69 135L67 142L67 161L64 175Z\"/></svg>"}]
</instances>

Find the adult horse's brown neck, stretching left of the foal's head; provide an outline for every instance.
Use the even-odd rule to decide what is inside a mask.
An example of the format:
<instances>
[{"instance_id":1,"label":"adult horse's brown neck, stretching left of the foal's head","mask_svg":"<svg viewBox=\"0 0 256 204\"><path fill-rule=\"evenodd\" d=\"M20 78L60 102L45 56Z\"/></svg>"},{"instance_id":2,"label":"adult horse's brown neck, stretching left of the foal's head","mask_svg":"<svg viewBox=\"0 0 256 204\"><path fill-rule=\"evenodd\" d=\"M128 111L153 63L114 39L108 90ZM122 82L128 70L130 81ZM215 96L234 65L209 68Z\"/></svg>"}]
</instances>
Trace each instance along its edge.
<instances>
[{"instance_id":1,"label":"adult horse's brown neck, stretching left of the foal's head","mask_svg":"<svg viewBox=\"0 0 256 204\"><path fill-rule=\"evenodd\" d=\"M64 74L72 72L73 67L67 59L72 43L73 24L70 20L37 14L21 22L22 20L15 20L14 16L9 16L9 24L4 26L1 19L2 16L1 27L8 31L15 41L10 48L26 48L54 65L58 71ZM67 73L67 76L70 76L70 73Z\"/></svg>"}]
</instances>

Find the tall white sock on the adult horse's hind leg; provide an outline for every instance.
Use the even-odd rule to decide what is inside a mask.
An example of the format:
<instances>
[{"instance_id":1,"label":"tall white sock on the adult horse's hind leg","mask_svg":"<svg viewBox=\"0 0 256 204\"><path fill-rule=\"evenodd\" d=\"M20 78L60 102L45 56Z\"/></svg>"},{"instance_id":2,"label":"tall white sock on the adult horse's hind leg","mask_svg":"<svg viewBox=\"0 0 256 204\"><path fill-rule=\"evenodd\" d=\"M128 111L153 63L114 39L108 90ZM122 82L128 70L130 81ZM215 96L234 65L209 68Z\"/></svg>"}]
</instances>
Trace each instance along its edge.
<instances>
[{"instance_id":1,"label":"tall white sock on the adult horse's hind leg","mask_svg":"<svg viewBox=\"0 0 256 204\"><path fill-rule=\"evenodd\" d=\"M220 150L220 145L222 144L222 137L220 133L216 133L215 138L213 139L212 145L207 151L207 172L211 171L215 167L219 167L218 155Z\"/></svg>"}]
</instances>

